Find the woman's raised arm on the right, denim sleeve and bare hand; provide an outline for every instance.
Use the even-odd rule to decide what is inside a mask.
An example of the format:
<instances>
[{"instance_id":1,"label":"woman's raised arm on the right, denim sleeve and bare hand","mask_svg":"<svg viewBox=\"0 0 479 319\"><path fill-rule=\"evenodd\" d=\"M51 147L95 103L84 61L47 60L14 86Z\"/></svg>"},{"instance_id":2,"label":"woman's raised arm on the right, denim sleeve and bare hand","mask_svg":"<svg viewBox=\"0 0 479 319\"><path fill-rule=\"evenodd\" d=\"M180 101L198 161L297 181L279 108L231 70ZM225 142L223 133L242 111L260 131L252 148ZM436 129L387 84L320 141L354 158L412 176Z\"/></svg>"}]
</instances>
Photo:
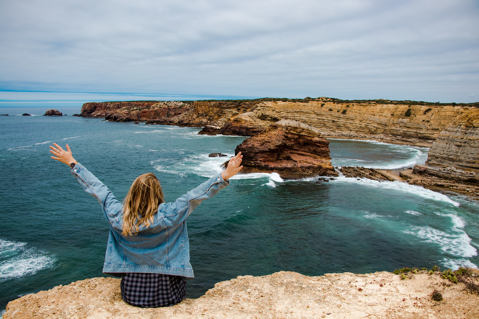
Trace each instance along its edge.
<instances>
[{"instance_id":1,"label":"woman's raised arm on the right, denim sleeve and bare hand","mask_svg":"<svg viewBox=\"0 0 479 319\"><path fill-rule=\"evenodd\" d=\"M205 183L178 198L174 203L160 204L159 210L173 224L181 224L203 200L216 195L221 188L229 185L228 179L243 168L242 165L240 166L242 158L243 155L239 152L229 160L228 167L221 174L211 177Z\"/></svg>"}]
</instances>

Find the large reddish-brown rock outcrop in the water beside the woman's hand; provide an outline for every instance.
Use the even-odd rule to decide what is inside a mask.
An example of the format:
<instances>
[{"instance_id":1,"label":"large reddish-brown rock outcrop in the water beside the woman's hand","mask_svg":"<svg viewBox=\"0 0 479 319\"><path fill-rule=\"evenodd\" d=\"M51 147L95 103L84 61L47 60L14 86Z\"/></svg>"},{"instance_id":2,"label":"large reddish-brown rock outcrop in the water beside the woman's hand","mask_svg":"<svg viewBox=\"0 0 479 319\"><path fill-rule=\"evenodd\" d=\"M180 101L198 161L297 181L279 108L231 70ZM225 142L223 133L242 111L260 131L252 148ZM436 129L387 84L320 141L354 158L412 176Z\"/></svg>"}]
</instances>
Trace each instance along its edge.
<instances>
[{"instance_id":1,"label":"large reddish-brown rock outcrop in the water beside the woman's hand","mask_svg":"<svg viewBox=\"0 0 479 319\"><path fill-rule=\"evenodd\" d=\"M328 145L314 127L281 120L246 139L236 147L235 154L243 154L243 173L276 172L285 179L338 176L331 165Z\"/></svg>"}]
</instances>

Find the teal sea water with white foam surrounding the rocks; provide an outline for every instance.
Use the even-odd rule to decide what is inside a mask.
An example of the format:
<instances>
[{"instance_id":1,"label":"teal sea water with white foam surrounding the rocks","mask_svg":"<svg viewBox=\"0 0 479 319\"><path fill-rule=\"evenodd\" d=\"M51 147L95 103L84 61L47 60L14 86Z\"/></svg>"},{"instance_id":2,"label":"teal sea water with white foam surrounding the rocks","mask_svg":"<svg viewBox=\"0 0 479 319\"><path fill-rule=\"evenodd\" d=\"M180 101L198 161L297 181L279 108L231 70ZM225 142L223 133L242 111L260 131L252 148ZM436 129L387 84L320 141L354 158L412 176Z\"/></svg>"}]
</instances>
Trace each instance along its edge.
<instances>
[{"instance_id":1,"label":"teal sea water with white foam surrounding the rocks","mask_svg":"<svg viewBox=\"0 0 479 319\"><path fill-rule=\"evenodd\" d=\"M120 200L138 175L154 172L165 200L173 201L220 172L224 158L208 154L232 155L244 140L198 131L71 116L1 116L0 307L23 294L103 276L108 224L69 168L49 158L48 145L68 143L75 159ZM331 140L330 149L334 165L392 169L427 156L427 149L377 142ZM466 197L400 182L235 176L188 218L196 277L187 283L187 297L238 275L280 270L323 275L475 267L478 208Z\"/></svg>"}]
</instances>

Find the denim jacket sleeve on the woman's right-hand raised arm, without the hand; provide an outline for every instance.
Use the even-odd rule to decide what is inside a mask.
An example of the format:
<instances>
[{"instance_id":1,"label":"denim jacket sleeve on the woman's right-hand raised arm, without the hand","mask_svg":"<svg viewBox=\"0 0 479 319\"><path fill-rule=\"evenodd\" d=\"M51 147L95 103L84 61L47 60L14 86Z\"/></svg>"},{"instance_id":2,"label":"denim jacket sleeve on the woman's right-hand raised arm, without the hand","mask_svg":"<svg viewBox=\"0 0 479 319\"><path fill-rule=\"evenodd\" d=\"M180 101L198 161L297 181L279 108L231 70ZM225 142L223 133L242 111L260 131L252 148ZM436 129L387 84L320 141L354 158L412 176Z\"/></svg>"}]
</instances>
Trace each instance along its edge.
<instances>
[{"instance_id":1,"label":"denim jacket sleeve on the woman's right-hand raised arm, without the hand","mask_svg":"<svg viewBox=\"0 0 479 319\"><path fill-rule=\"evenodd\" d=\"M159 211L174 225L180 225L203 200L213 197L220 189L229 185L221 174L190 190L173 203L160 204Z\"/></svg>"}]
</instances>

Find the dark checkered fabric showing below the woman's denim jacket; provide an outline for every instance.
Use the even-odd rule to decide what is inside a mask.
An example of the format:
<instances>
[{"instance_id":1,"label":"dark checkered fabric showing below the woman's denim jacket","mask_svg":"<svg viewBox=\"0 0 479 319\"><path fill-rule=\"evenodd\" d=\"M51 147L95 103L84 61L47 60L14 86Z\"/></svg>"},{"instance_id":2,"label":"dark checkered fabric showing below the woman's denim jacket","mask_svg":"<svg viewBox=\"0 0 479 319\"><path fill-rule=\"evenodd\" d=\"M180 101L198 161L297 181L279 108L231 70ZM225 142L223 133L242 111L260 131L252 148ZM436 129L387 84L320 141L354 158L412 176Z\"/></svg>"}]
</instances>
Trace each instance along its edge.
<instances>
[{"instance_id":1,"label":"dark checkered fabric showing below the woman's denim jacket","mask_svg":"<svg viewBox=\"0 0 479 319\"><path fill-rule=\"evenodd\" d=\"M123 300L141 308L173 306L186 294L180 276L164 274L124 273L120 288Z\"/></svg>"}]
</instances>

